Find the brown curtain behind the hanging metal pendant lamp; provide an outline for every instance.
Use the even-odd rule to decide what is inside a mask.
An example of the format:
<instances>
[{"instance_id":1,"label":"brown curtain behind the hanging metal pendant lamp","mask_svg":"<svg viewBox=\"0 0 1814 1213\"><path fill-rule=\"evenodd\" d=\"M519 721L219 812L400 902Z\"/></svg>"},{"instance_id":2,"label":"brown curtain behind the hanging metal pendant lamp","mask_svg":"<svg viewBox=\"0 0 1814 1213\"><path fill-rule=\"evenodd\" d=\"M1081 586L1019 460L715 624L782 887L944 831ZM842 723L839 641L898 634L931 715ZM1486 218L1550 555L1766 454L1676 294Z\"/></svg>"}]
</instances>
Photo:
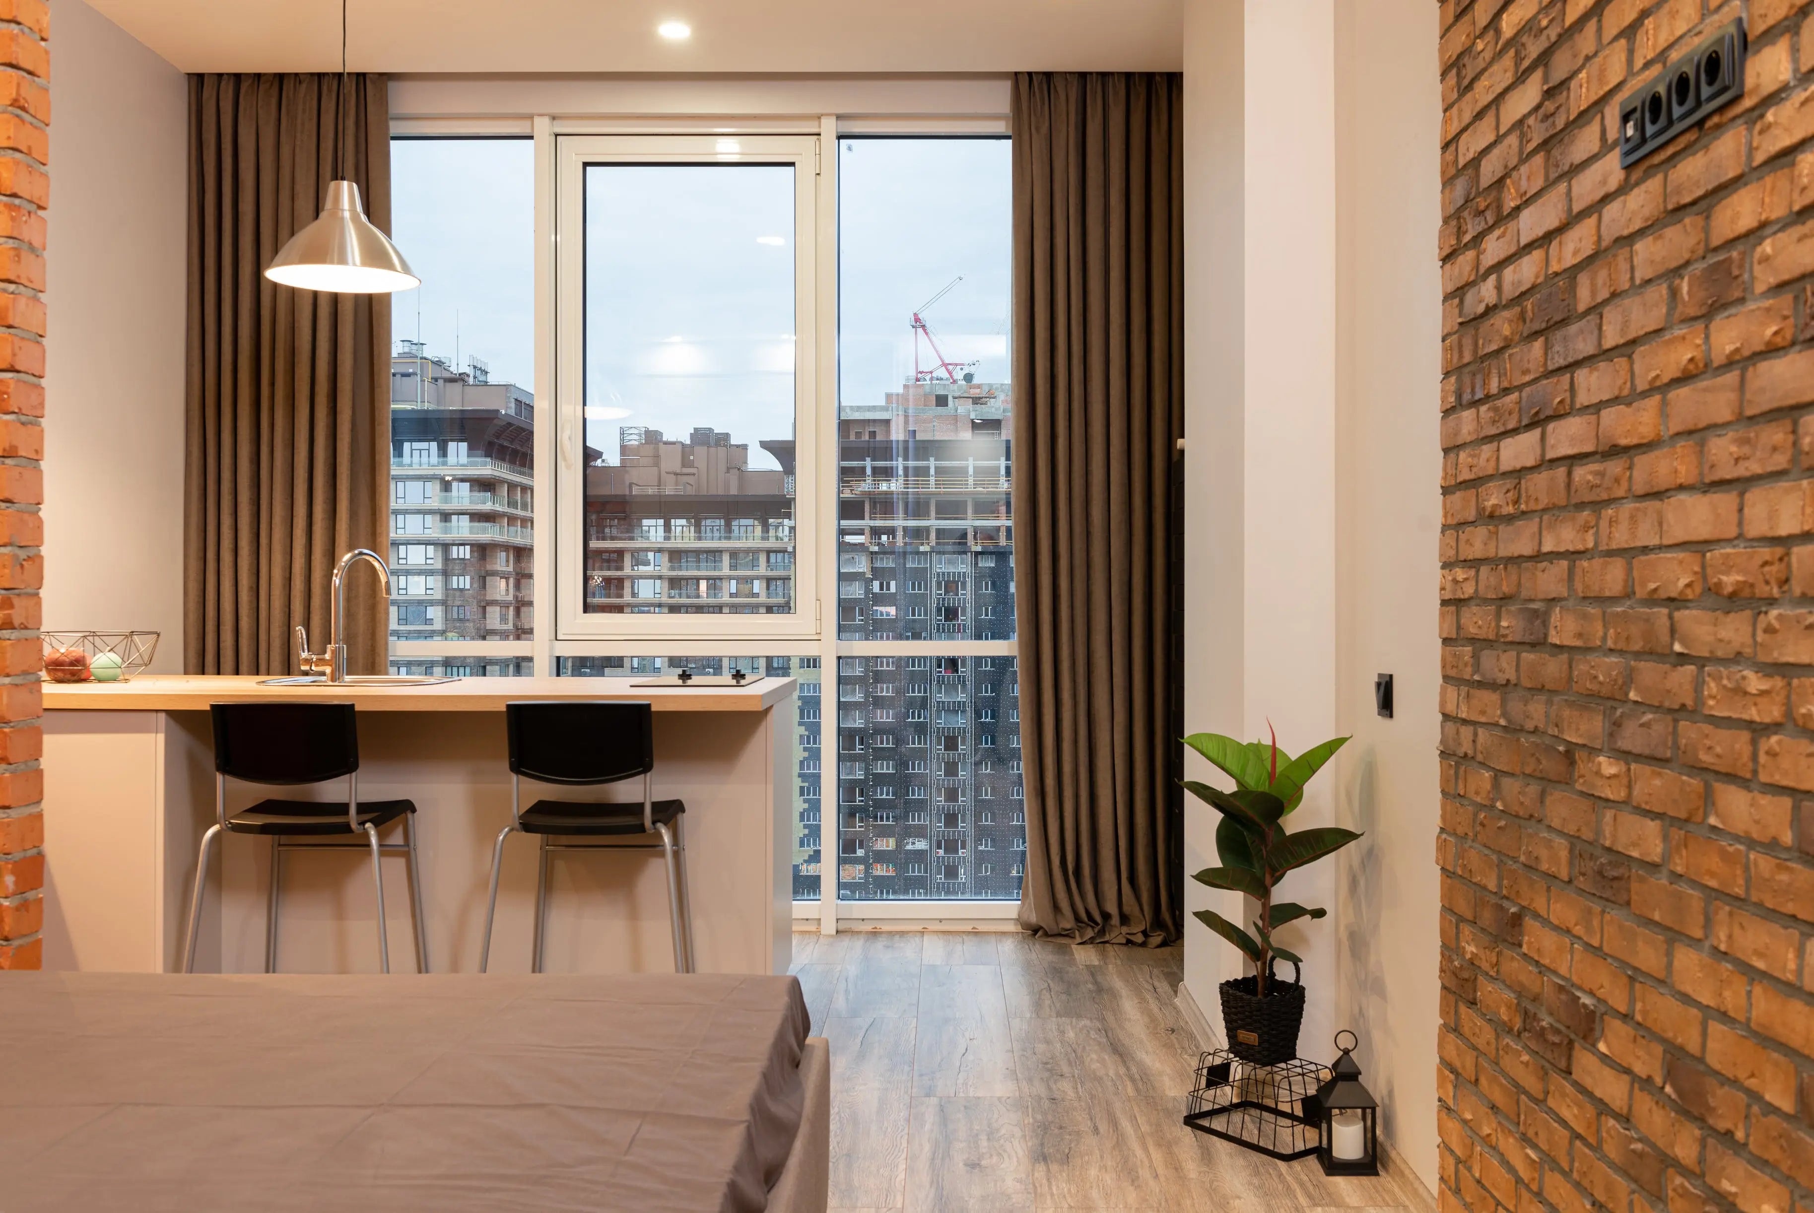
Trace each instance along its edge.
<instances>
[{"instance_id":1,"label":"brown curtain behind the hanging metal pendant lamp","mask_svg":"<svg viewBox=\"0 0 1814 1213\"><path fill-rule=\"evenodd\" d=\"M189 78L189 415L183 667L279 674L292 626L321 651L328 580L350 548L385 551L390 296L263 276L345 172L390 228L385 76ZM346 595L348 664L385 664L370 569Z\"/></svg>"}]
</instances>

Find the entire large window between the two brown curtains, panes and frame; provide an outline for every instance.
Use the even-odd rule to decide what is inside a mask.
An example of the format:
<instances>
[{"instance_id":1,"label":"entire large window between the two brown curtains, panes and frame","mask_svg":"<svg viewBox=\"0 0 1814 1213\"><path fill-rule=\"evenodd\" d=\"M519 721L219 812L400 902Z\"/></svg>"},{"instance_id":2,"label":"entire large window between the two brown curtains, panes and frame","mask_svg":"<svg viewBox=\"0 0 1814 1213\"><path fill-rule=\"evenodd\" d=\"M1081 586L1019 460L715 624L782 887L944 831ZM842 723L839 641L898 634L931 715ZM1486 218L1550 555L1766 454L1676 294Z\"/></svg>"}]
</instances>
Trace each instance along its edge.
<instances>
[{"instance_id":1,"label":"entire large window between the two brown curtains, panes and frame","mask_svg":"<svg viewBox=\"0 0 1814 1213\"><path fill-rule=\"evenodd\" d=\"M825 134L394 143L392 669L798 678L795 898L963 917L1025 859L1009 143Z\"/></svg>"}]
</instances>

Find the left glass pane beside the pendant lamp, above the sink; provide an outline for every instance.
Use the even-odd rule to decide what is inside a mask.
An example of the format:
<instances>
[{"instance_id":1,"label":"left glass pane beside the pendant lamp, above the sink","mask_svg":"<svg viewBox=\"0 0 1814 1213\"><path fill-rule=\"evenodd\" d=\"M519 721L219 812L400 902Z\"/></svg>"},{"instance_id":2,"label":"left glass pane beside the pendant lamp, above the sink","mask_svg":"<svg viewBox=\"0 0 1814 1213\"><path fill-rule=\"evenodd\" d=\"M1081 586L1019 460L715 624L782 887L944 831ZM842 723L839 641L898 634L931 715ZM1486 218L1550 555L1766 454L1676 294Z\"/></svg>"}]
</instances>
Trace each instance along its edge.
<instances>
[{"instance_id":1,"label":"left glass pane beside the pendant lamp, above the sink","mask_svg":"<svg viewBox=\"0 0 1814 1213\"><path fill-rule=\"evenodd\" d=\"M392 640L528 640L535 602L535 149L392 140L395 239L421 276L392 296ZM399 658L528 673L528 658ZM521 669L519 669L521 667Z\"/></svg>"}]
</instances>

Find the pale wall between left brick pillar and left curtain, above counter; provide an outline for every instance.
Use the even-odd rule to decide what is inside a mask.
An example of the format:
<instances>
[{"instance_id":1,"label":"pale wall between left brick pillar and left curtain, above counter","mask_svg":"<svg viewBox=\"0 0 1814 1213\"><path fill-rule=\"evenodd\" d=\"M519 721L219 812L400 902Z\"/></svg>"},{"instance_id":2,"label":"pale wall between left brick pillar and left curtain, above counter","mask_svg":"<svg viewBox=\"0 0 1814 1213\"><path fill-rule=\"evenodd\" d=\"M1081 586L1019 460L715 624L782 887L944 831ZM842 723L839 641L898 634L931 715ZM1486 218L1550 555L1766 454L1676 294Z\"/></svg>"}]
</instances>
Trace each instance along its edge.
<instances>
[{"instance_id":1,"label":"pale wall between left brick pillar and left curtain, above counter","mask_svg":"<svg viewBox=\"0 0 1814 1213\"><path fill-rule=\"evenodd\" d=\"M180 671L187 85L82 0L51 36L44 624Z\"/></svg>"}]
</instances>

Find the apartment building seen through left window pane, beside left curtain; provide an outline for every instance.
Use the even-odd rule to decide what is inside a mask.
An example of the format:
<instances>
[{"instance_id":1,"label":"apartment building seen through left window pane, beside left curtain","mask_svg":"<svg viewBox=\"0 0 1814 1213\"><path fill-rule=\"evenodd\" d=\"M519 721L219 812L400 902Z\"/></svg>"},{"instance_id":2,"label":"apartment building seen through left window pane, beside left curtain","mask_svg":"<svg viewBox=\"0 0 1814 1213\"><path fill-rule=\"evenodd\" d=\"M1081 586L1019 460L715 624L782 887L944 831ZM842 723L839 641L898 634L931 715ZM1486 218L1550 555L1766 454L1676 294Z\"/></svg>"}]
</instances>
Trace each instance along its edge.
<instances>
[{"instance_id":1,"label":"apartment building seen through left window pane, beside left curtain","mask_svg":"<svg viewBox=\"0 0 1814 1213\"><path fill-rule=\"evenodd\" d=\"M528 640L535 604L535 397L415 341L390 361L390 636ZM392 658L395 673L444 662ZM526 674L526 658L459 673Z\"/></svg>"}]
</instances>

